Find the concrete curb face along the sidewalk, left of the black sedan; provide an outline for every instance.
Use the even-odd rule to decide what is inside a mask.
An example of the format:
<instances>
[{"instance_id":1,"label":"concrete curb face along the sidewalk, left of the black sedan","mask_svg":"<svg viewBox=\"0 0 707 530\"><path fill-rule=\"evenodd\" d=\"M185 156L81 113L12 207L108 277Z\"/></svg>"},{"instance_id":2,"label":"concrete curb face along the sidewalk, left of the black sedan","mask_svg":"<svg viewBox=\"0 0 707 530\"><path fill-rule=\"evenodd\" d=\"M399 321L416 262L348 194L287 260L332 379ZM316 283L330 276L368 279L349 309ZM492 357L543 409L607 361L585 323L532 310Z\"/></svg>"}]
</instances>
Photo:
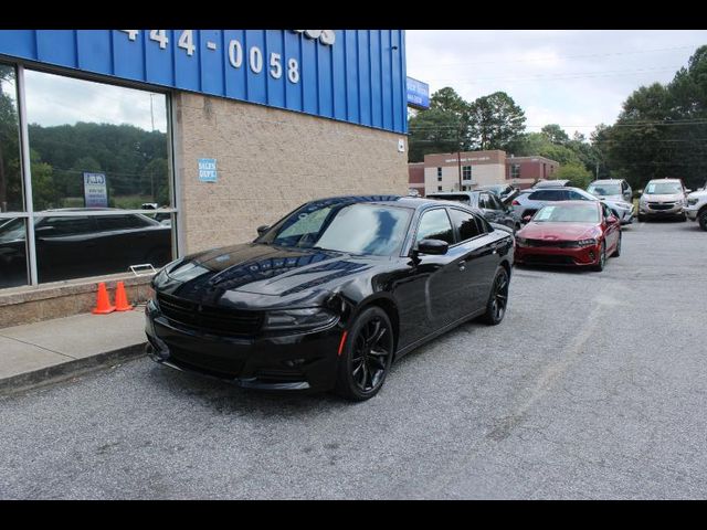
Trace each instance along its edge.
<instances>
[{"instance_id":1,"label":"concrete curb face along the sidewalk, left of the black sedan","mask_svg":"<svg viewBox=\"0 0 707 530\"><path fill-rule=\"evenodd\" d=\"M50 384L66 381L78 375L85 375L112 364L137 359L145 356L145 344L126 346L117 350L106 351L96 356L62 362L52 367L31 372L19 373L0 380L0 396L12 395Z\"/></svg>"}]
</instances>

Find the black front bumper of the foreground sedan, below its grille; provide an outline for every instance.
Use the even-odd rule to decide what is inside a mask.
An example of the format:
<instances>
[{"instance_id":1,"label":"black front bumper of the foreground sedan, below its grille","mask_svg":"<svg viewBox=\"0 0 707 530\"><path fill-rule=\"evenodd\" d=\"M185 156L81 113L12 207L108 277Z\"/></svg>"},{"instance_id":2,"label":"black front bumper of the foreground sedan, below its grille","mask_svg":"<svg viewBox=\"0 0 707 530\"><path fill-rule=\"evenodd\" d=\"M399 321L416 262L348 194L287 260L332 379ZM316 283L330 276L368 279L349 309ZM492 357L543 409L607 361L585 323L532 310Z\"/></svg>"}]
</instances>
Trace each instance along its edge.
<instances>
[{"instance_id":1,"label":"black front bumper of the foreground sedan, below its grille","mask_svg":"<svg viewBox=\"0 0 707 530\"><path fill-rule=\"evenodd\" d=\"M178 370L250 389L326 391L335 385L341 329L338 325L286 336L225 337L167 319L145 308L149 357Z\"/></svg>"}]
</instances>

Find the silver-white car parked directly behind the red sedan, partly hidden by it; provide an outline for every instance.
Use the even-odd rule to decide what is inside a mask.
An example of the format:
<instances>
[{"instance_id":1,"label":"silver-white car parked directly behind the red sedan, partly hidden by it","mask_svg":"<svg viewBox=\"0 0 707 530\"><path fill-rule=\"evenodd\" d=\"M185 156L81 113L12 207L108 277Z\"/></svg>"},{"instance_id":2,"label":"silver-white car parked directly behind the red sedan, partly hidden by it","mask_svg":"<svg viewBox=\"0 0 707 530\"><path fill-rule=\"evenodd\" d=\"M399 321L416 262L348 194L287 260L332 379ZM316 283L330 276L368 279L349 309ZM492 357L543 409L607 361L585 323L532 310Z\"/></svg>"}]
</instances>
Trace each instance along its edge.
<instances>
[{"instance_id":1,"label":"silver-white car parked directly behind the red sedan, partly hidden by it","mask_svg":"<svg viewBox=\"0 0 707 530\"><path fill-rule=\"evenodd\" d=\"M630 202L599 199L580 188L546 187L539 190L531 188L523 190L511 204L516 220L523 223L546 204L558 201L600 201L610 208L621 224L631 224L633 222L634 208Z\"/></svg>"}]
</instances>

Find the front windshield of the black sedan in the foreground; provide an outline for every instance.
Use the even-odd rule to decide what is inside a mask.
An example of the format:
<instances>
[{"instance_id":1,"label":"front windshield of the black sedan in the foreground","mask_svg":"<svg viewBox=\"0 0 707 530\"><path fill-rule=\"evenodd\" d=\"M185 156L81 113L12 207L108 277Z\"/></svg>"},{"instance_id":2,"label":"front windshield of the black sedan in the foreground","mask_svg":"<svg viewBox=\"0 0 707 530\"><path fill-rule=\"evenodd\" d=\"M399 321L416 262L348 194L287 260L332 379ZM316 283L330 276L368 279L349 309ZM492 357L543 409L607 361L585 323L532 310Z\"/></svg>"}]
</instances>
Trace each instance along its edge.
<instances>
[{"instance_id":1,"label":"front windshield of the black sedan in the foreground","mask_svg":"<svg viewBox=\"0 0 707 530\"><path fill-rule=\"evenodd\" d=\"M370 203L307 204L273 226L260 243L350 254L400 253L411 211Z\"/></svg>"}]
</instances>

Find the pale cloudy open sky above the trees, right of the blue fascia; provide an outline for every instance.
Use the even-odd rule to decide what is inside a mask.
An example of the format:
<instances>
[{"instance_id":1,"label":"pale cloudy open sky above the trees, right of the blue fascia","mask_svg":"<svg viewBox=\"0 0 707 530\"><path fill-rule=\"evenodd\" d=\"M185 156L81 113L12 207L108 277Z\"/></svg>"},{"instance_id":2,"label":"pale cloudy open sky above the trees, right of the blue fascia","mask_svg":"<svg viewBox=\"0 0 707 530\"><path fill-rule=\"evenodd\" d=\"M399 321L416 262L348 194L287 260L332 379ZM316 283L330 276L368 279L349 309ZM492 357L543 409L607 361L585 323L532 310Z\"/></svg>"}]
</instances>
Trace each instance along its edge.
<instances>
[{"instance_id":1,"label":"pale cloudy open sky above the trees, right of the blue fascia","mask_svg":"<svg viewBox=\"0 0 707 530\"><path fill-rule=\"evenodd\" d=\"M668 83L707 30L407 30L408 75L464 99L503 91L528 131L559 124L588 138L633 91Z\"/></svg>"}]
</instances>

